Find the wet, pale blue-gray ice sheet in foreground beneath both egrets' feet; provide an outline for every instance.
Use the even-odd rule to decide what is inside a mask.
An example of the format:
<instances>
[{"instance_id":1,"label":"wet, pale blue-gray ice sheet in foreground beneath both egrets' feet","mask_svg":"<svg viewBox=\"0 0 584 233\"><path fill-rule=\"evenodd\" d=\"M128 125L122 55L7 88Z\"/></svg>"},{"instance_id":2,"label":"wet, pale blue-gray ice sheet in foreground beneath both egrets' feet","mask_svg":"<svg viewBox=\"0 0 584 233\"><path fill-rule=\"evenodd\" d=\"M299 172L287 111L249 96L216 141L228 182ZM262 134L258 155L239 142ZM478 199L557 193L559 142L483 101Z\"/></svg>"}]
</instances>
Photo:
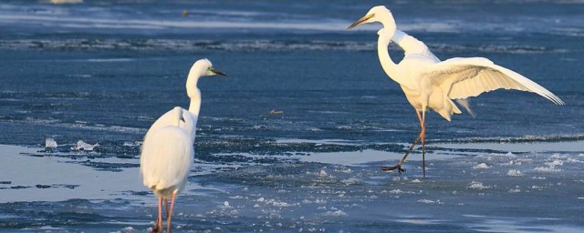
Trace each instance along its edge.
<instances>
[{"instance_id":1,"label":"wet, pale blue-gray ice sheet in foreground beneath both egrets' feet","mask_svg":"<svg viewBox=\"0 0 584 233\"><path fill-rule=\"evenodd\" d=\"M531 145L541 144L546 143ZM523 152L524 144L497 148L499 145L430 145L433 150L427 157L427 178L422 177L418 153L412 154L417 159L406 163L408 171L402 175L381 172L378 167L380 163L397 162L400 153L375 150L310 152L276 157L271 163L206 164L198 160L189 177L189 187L177 200L174 226L181 230L335 232L387 228L578 232L584 228L580 221L584 151L562 152L565 145L561 142L546 144L547 149L535 152ZM0 185L33 186L0 189L3 198L14 192L19 192L14 196L22 196L21 201L2 201L0 215L6 218L0 220L0 226L16 222L13 229L34 231L42 223L43 228L130 232L150 227L156 199L141 187L137 167L122 167L121 171L99 169L76 161L68 163L73 159L66 156L30 156L39 154L36 149L3 148L5 161L29 164L31 171L45 175L10 175L12 183ZM554 149L559 151L546 152ZM380 161L391 154L395 154L391 160ZM450 156L434 157L442 154ZM111 164L138 162L137 158L89 159ZM61 176L62 171L76 176ZM104 180L108 185L100 184ZM36 184L78 187L38 188ZM59 189L71 199L53 197ZM554 208L549 208L549 203L554 203Z\"/></svg>"}]
</instances>

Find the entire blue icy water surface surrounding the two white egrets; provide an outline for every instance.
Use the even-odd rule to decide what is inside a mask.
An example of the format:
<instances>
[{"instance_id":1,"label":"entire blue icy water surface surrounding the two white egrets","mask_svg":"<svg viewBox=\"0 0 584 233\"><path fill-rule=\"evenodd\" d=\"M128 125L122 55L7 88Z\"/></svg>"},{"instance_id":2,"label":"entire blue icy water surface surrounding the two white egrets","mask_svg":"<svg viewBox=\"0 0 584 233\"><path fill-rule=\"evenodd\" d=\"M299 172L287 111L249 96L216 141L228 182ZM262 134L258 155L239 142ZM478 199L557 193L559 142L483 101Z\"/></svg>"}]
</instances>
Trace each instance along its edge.
<instances>
[{"instance_id":1,"label":"entire blue icy water surface surrounding the two white egrets","mask_svg":"<svg viewBox=\"0 0 584 233\"><path fill-rule=\"evenodd\" d=\"M2 155L13 164L0 171L0 229L149 228L141 138L188 106L185 78L203 57L229 76L199 82L177 231L584 228L581 1L49 2L0 3L0 144L36 148ZM381 70L380 25L345 30L380 4L439 58L488 57L567 106L499 90L472 99L477 117L429 113L430 177L419 154L401 176L381 172L419 126ZM47 137L56 151L41 151ZM99 147L71 151L78 140ZM77 179L56 175L68 172Z\"/></svg>"}]
</instances>

